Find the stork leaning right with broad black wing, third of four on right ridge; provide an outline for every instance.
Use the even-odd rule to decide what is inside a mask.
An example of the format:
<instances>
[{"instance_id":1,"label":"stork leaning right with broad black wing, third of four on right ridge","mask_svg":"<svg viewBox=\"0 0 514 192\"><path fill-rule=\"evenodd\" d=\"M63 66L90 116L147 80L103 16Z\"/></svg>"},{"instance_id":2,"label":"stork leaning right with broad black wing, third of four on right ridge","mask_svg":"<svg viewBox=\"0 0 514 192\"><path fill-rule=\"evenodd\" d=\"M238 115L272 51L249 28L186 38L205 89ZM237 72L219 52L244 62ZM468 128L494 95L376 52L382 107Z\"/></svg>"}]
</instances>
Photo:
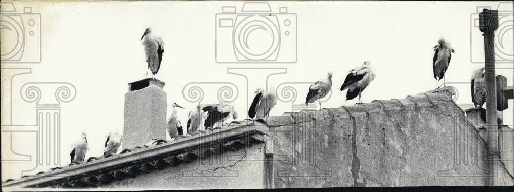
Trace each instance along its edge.
<instances>
[{"instance_id":1,"label":"stork leaning right with broad black wing, third of four on right ridge","mask_svg":"<svg viewBox=\"0 0 514 192\"><path fill-rule=\"evenodd\" d=\"M365 61L364 65L352 69L344 79L340 91L348 89L346 92L346 100L351 100L359 95L359 103L362 103L361 93L375 79L375 70L369 61Z\"/></svg>"}]
</instances>

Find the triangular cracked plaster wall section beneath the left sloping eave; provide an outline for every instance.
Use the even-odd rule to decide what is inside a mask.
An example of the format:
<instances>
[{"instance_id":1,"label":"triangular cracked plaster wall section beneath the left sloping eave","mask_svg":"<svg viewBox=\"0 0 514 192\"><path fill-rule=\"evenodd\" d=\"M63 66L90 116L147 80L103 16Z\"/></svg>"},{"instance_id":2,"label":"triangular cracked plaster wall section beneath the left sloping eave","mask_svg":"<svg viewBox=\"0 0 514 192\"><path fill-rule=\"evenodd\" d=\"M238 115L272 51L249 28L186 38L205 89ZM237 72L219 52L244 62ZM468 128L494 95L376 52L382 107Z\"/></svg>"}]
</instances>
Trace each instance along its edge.
<instances>
[{"instance_id":1,"label":"triangular cracked plaster wall section beneath the left sloping eave","mask_svg":"<svg viewBox=\"0 0 514 192\"><path fill-rule=\"evenodd\" d=\"M115 181L101 188L119 189L224 189L265 188L264 144L155 170Z\"/></svg>"}]
</instances>

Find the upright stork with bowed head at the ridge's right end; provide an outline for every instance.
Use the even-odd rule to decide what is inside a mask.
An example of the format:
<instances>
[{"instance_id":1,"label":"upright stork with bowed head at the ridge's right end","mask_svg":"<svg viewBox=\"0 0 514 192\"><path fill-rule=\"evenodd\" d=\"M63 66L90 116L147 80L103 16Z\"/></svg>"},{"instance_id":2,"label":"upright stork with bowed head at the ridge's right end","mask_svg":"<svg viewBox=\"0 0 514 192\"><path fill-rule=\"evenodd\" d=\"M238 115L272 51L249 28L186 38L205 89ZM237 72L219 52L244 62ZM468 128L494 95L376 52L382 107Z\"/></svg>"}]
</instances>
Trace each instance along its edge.
<instances>
[{"instance_id":1,"label":"upright stork with bowed head at the ridge's right end","mask_svg":"<svg viewBox=\"0 0 514 192\"><path fill-rule=\"evenodd\" d=\"M444 38L440 38L437 42L439 44L433 47L435 53L432 64L434 68L434 78L437 80L437 88L439 88L440 80L444 78L446 70L450 65L451 53L455 53L455 50L451 48L450 43L445 41ZM446 84L446 79L444 83Z\"/></svg>"}]
</instances>

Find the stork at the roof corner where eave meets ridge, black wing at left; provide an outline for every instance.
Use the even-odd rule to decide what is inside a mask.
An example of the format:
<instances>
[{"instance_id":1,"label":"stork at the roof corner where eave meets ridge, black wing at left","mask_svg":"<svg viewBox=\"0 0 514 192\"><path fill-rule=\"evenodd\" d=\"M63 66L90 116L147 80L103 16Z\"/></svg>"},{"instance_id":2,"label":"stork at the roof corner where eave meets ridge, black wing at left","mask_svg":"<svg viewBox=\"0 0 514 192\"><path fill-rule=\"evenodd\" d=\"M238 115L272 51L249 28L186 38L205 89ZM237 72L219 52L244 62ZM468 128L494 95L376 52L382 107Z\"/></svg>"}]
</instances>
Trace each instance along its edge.
<instances>
[{"instance_id":1,"label":"stork at the roof corner where eave meets ridge, black wing at left","mask_svg":"<svg viewBox=\"0 0 514 192\"><path fill-rule=\"evenodd\" d=\"M248 116L252 119L265 118L276 104L277 97L273 92L266 93L264 89L256 89L255 98L248 109Z\"/></svg>"}]
</instances>

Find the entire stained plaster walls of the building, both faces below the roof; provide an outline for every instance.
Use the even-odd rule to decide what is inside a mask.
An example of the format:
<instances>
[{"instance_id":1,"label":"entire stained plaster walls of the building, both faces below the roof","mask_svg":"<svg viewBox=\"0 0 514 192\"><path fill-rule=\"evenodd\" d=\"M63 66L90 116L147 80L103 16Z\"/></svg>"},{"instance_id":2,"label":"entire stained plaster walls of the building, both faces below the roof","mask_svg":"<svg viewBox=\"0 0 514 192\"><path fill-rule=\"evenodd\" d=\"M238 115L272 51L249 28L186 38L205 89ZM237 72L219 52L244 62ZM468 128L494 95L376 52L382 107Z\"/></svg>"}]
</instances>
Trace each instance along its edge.
<instances>
[{"instance_id":1,"label":"entire stained plaster walls of the building, both faces below the roof","mask_svg":"<svg viewBox=\"0 0 514 192\"><path fill-rule=\"evenodd\" d=\"M269 128L269 142L107 187L459 186L487 185L491 175L486 143L464 112L438 93L284 113L264 121L255 126ZM505 168L510 164L494 163L500 184L513 185Z\"/></svg>"}]
</instances>

